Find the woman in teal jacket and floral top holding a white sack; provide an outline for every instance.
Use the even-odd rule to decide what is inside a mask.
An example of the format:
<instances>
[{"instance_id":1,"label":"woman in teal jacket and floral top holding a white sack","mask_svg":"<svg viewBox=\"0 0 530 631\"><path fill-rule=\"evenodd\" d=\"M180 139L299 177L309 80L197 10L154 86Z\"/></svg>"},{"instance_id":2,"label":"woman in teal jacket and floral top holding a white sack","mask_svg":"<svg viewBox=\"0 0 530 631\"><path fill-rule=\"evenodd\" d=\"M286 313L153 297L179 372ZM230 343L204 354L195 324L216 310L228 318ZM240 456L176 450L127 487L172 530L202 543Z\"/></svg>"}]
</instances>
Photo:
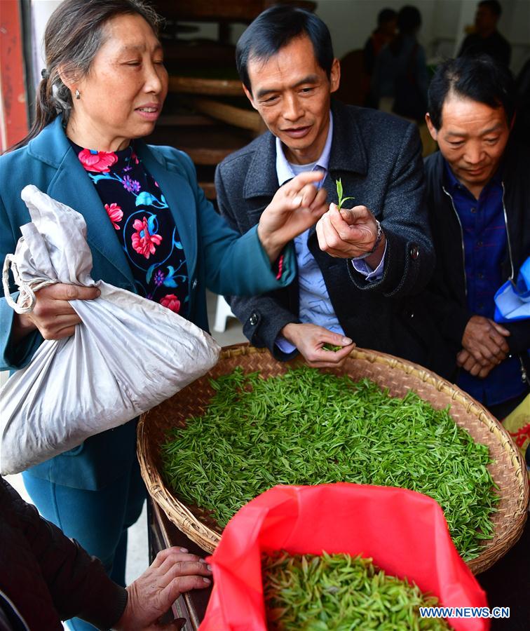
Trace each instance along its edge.
<instances>
[{"instance_id":1,"label":"woman in teal jacket and floral top holding a white sack","mask_svg":"<svg viewBox=\"0 0 530 631\"><path fill-rule=\"evenodd\" d=\"M319 174L293 179L257 229L239 236L205 199L188 156L138 140L154 128L168 89L156 27L140 0L65 0L52 15L34 128L0 158L0 257L15 251L30 221L20 191L34 184L85 218L95 280L208 330L205 287L252 295L291 282L287 243L325 212L325 192L312 184ZM79 318L67 300L93 299L97 290L50 285L36 296L27 315L0 300L0 369L27 365L43 338L72 334ZM24 478L43 516L123 584L126 529L144 500L135 423L95 435Z\"/></svg>"}]
</instances>

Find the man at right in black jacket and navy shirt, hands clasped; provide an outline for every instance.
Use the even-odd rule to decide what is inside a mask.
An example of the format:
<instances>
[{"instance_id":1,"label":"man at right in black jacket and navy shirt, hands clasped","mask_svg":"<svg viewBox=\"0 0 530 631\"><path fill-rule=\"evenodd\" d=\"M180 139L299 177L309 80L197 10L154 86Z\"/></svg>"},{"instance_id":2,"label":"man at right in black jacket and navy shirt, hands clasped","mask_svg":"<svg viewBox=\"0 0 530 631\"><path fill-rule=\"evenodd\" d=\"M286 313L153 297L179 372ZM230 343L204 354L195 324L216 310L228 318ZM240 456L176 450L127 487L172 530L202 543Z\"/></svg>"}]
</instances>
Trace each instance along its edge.
<instances>
[{"instance_id":1,"label":"man at right in black jacket and navy shirt, hands clasped","mask_svg":"<svg viewBox=\"0 0 530 631\"><path fill-rule=\"evenodd\" d=\"M425 295L458 385L498 418L529 391L529 320L494 321L494 295L530 255L530 159L510 137L515 91L491 57L445 62L429 88L426 159L435 276Z\"/></svg>"}]
</instances>

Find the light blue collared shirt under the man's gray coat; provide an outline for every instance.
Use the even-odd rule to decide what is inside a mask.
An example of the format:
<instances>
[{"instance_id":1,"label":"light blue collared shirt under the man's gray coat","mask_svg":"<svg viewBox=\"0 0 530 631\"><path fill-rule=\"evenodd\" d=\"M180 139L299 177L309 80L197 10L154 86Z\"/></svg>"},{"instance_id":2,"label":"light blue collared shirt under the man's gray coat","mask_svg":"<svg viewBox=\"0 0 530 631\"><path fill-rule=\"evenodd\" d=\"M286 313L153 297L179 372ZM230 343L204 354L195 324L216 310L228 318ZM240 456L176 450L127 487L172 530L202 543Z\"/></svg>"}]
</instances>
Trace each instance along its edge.
<instances>
[{"instance_id":1,"label":"light blue collared shirt under the man's gray coat","mask_svg":"<svg viewBox=\"0 0 530 631\"><path fill-rule=\"evenodd\" d=\"M331 152L333 137L333 115L329 112L329 130L327 133L326 144L322 150L322 154L316 162L311 164L292 164L287 161L283 153L282 143L276 138L276 174L278 175L278 183L280 186L288 182L304 171L320 170L325 176L318 183L318 188L324 184L327 177L327 168L329 166L329 154ZM297 255L298 266L298 283L299 283L299 318L302 323L315 324L324 327L329 331L344 335L337 315L335 314L327 287L322 276L322 272L315 261L315 257L309 251L307 242L309 229L294 238L294 251ZM354 268L366 276L367 280L379 280L383 276L385 253L381 262L372 270L364 259L352 259ZM283 336L276 338L276 346L283 353L292 353L296 350L290 341Z\"/></svg>"}]
</instances>

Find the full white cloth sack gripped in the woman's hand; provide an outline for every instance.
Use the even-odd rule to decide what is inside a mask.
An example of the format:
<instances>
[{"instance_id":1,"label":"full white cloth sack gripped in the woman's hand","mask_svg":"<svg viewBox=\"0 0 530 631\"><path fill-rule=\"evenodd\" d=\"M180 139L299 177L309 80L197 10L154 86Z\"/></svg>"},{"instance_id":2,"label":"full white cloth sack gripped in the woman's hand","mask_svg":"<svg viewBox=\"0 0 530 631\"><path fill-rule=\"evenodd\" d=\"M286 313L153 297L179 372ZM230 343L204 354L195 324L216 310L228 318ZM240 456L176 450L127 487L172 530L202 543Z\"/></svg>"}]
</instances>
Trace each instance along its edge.
<instances>
[{"instance_id":1,"label":"full white cloth sack gripped in the woman's hand","mask_svg":"<svg viewBox=\"0 0 530 631\"><path fill-rule=\"evenodd\" d=\"M32 223L6 257L4 292L31 311L32 287L96 285L95 300L72 300L82 320L67 339L45 340L0 392L0 473L18 473L94 434L126 423L198 379L220 347L170 309L90 278L83 217L36 186L22 191ZM9 295L8 266L25 300ZM19 301L20 302L20 301Z\"/></svg>"}]
</instances>

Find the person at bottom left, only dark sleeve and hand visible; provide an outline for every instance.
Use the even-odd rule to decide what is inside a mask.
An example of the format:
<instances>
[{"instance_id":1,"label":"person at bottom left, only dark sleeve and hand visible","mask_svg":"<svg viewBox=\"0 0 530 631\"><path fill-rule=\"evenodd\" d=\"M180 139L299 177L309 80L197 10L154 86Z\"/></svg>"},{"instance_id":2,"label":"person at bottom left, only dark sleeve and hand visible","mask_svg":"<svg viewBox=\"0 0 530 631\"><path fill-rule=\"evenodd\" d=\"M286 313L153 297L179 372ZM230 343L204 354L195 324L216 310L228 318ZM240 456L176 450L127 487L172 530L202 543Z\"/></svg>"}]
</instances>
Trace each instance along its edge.
<instances>
[{"instance_id":1,"label":"person at bottom left, only dark sleeve and hand visible","mask_svg":"<svg viewBox=\"0 0 530 631\"><path fill-rule=\"evenodd\" d=\"M77 616L98 629L158 627L182 592L210 584L208 565L186 550L160 552L128 588L0 477L0 630L62 630Z\"/></svg>"}]
</instances>

